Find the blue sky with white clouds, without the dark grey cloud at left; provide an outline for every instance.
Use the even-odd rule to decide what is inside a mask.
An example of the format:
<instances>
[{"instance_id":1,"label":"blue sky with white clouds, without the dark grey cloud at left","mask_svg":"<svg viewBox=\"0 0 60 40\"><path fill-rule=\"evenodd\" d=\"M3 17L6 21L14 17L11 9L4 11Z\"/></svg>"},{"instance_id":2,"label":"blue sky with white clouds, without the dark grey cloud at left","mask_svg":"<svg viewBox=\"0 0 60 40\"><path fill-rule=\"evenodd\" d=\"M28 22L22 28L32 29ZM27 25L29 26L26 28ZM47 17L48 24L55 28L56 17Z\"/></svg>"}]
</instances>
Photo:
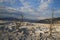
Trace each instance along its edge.
<instances>
[{"instance_id":1,"label":"blue sky with white clouds, without the dark grey cloud at left","mask_svg":"<svg viewBox=\"0 0 60 40\"><path fill-rule=\"evenodd\" d=\"M52 9L54 17L60 17L60 0L0 0L0 6L23 12L29 19L51 18Z\"/></svg>"}]
</instances>

